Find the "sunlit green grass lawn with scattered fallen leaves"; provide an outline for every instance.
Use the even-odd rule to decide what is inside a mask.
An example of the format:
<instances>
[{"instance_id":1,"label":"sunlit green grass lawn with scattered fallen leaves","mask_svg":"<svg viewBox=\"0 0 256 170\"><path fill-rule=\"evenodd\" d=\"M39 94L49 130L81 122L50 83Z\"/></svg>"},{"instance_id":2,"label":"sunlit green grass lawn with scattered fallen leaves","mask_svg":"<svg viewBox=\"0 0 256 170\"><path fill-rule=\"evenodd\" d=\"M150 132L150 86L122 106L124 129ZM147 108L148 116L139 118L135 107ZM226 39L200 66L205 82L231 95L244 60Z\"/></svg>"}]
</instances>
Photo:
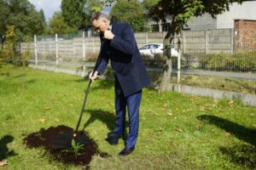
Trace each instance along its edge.
<instances>
[{"instance_id":1,"label":"sunlit green grass lawn with scattered fallen leaves","mask_svg":"<svg viewBox=\"0 0 256 170\"><path fill-rule=\"evenodd\" d=\"M23 139L41 128L75 127L87 80L30 68L0 69L1 169L81 169L54 161L44 148L28 149ZM136 150L117 156L124 142L109 145L113 130L113 82L90 88L82 128L108 158L94 156L90 169L255 169L256 108L153 89L143 90ZM9 137L8 141L5 140Z\"/></svg>"}]
</instances>

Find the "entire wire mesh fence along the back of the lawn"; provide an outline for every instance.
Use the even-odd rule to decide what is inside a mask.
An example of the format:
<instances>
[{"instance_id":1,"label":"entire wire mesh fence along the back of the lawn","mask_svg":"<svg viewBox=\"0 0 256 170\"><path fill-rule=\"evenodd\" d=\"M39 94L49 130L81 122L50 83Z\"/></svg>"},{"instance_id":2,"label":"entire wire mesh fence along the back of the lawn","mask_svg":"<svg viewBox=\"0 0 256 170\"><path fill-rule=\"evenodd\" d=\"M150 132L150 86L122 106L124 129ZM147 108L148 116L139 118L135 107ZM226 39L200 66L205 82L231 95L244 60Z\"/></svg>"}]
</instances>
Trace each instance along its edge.
<instances>
[{"instance_id":1,"label":"entire wire mesh fence along the back of the lawn","mask_svg":"<svg viewBox=\"0 0 256 170\"><path fill-rule=\"evenodd\" d=\"M244 28L246 29L246 28ZM250 30L250 29L248 29ZM252 30L250 30L252 31ZM100 50L99 37L37 36L34 42L21 43L21 52L29 50L33 65L56 69L85 71ZM149 42L163 42L166 32L138 32L138 47ZM179 83L256 94L256 37L246 37L250 44L241 46L236 29L183 31L181 36L181 75ZM240 42L239 42L240 41ZM255 43L254 43L255 42ZM239 45L239 43L241 43ZM238 44L238 45L237 45ZM177 36L172 47L177 49ZM145 62L148 58L145 57ZM165 62L161 55L147 65L152 80L160 77ZM149 62L149 63L150 63ZM172 57L171 82L177 83L177 57Z\"/></svg>"}]
</instances>

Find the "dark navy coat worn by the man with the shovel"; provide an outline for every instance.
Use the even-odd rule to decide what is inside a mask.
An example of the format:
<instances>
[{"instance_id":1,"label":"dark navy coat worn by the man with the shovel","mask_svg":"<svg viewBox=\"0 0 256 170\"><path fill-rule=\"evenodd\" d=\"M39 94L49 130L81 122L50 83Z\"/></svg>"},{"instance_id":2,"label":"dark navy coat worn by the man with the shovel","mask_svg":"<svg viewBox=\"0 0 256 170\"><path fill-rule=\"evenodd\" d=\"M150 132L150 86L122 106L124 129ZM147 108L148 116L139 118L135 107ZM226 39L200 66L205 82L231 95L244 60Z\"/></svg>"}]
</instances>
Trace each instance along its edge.
<instances>
[{"instance_id":1,"label":"dark navy coat worn by the man with the shovel","mask_svg":"<svg viewBox=\"0 0 256 170\"><path fill-rule=\"evenodd\" d=\"M112 40L101 38L101 60L97 71L102 74L110 59L116 81L126 97L148 86L150 80L131 26L114 21L112 32Z\"/></svg>"}]
</instances>

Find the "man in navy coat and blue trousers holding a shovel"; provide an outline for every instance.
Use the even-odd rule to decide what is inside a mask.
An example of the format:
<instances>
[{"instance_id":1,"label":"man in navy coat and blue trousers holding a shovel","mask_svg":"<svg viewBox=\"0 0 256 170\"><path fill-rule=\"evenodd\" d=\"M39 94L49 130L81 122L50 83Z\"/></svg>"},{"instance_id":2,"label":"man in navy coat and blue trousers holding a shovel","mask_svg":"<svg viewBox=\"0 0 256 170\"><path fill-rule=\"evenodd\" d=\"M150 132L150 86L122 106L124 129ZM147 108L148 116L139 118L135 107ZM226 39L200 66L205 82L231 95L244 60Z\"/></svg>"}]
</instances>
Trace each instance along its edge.
<instances>
[{"instance_id":1,"label":"man in navy coat and blue trousers holding a shovel","mask_svg":"<svg viewBox=\"0 0 256 170\"><path fill-rule=\"evenodd\" d=\"M90 79L94 81L104 71L108 60L111 61L115 73L116 126L112 133L108 133L108 142L117 144L118 139L124 137L127 107L129 133L125 141L125 149L119 152L119 156L127 156L135 149L137 142L142 89L150 83L149 77L131 26L112 22L108 19L108 15L103 13L94 14L91 23L101 34L102 47L101 60L95 74L90 73Z\"/></svg>"}]
</instances>

